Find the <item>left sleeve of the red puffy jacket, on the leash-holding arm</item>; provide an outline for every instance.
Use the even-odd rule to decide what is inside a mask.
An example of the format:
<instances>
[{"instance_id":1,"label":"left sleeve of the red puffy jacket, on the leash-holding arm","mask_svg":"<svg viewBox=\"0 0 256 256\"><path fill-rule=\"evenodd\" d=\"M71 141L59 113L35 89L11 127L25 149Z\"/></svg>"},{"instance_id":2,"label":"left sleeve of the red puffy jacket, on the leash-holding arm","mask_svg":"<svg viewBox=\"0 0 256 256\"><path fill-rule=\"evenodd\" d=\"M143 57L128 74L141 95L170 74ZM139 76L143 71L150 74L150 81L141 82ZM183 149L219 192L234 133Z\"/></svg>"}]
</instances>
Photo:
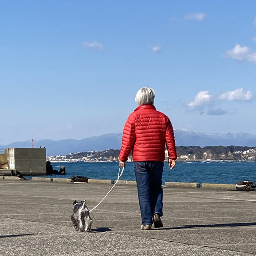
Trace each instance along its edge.
<instances>
[{"instance_id":1,"label":"left sleeve of the red puffy jacket, on the leash-holding arm","mask_svg":"<svg viewBox=\"0 0 256 256\"><path fill-rule=\"evenodd\" d=\"M135 143L135 126L131 115L129 115L123 128L122 146L119 155L119 160L122 162L127 161Z\"/></svg>"}]
</instances>

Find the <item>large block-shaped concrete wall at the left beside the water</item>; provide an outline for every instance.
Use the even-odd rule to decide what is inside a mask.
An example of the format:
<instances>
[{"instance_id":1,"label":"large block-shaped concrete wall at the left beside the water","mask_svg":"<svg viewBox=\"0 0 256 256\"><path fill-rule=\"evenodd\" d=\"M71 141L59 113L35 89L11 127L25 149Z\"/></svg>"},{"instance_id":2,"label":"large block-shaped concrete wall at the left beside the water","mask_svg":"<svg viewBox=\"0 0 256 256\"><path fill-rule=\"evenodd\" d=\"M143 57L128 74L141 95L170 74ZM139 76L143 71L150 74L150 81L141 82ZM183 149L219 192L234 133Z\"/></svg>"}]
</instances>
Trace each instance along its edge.
<instances>
[{"instance_id":1,"label":"large block-shaped concrete wall at the left beside the water","mask_svg":"<svg viewBox=\"0 0 256 256\"><path fill-rule=\"evenodd\" d=\"M23 175L46 175L45 148L5 148L11 169Z\"/></svg>"}]
</instances>

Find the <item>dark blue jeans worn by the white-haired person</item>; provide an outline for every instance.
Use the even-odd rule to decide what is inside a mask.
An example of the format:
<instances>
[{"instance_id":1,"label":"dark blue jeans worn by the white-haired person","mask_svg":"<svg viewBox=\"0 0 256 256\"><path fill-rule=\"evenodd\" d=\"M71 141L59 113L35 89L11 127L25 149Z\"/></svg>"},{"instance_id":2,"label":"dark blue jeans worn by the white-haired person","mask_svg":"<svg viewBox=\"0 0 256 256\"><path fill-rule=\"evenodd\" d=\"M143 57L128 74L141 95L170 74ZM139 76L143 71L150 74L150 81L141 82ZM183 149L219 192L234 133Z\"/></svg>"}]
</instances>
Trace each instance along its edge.
<instances>
[{"instance_id":1,"label":"dark blue jeans worn by the white-haired person","mask_svg":"<svg viewBox=\"0 0 256 256\"><path fill-rule=\"evenodd\" d=\"M143 225L151 225L155 213L162 216L163 162L134 162L141 219Z\"/></svg>"}]
</instances>

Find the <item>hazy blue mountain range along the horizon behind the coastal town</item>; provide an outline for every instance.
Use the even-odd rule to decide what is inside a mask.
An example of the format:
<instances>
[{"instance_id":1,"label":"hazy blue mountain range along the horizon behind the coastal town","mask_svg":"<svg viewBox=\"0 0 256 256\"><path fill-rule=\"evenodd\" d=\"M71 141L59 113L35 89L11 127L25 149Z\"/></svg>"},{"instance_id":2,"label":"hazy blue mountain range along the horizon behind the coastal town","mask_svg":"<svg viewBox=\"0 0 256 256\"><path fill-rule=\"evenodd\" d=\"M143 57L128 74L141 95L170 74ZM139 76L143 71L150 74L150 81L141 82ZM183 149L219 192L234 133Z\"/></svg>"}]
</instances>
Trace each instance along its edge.
<instances>
[{"instance_id":1,"label":"hazy blue mountain range along the horizon behind the coastal town","mask_svg":"<svg viewBox=\"0 0 256 256\"><path fill-rule=\"evenodd\" d=\"M175 129L175 141L177 146L248 146L256 147L256 135L249 133L198 133L194 131ZM68 155L70 152L103 151L108 148L120 149L122 133L108 133L101 136L88 137L82 140L40 140L34 141L34 148L40 146L46 148L47 156ZM18 141L8 145L0 145L4 148L31 148L32 141Z\"/></svg>"}]
</instances>

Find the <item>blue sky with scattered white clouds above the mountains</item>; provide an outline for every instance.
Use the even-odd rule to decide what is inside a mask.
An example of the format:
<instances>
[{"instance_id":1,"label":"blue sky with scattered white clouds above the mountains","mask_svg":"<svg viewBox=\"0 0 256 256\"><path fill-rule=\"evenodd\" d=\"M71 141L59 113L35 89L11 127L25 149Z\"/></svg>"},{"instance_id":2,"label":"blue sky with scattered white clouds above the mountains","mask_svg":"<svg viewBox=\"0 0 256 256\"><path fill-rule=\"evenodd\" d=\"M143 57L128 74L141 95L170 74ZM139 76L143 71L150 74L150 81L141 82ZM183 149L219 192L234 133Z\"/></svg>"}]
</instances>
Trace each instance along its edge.
<instances>
[{"instance_id":1,"label":"blue sky with scattered white clouds above the mountains","mask_svg":"<svg viewBox=\"0 0 256 256\"><path fill-rule=\"evenodd\" d=\"M255 0L0 0L0 144L122 132L151 86L176 129L256 134Z\"/></svg>"}]
</instances>

